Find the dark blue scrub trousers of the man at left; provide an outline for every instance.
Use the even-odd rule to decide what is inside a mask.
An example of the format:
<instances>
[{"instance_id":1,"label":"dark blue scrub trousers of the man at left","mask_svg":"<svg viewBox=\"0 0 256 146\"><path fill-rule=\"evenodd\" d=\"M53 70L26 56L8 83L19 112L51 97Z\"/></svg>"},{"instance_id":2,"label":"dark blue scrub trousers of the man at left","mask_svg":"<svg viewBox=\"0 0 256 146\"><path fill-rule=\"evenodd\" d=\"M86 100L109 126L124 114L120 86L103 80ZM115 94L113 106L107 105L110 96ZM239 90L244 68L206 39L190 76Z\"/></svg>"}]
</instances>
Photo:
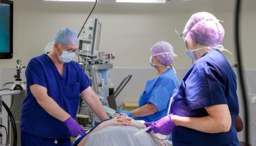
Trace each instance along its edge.
<instances>
[{"instance_id":1,"label":"dark blue scrub trousers of the man at left","mask_svg":"<svg viewBox=\"0 0 256 146\"><path fill-rule=\"evenodd\" d=\"M22 146L71 146L71 139L48 139L44 137L38 137L36 135L28 134L26 132L20 132L21 145Z\"/></svg>"}]
</instances>

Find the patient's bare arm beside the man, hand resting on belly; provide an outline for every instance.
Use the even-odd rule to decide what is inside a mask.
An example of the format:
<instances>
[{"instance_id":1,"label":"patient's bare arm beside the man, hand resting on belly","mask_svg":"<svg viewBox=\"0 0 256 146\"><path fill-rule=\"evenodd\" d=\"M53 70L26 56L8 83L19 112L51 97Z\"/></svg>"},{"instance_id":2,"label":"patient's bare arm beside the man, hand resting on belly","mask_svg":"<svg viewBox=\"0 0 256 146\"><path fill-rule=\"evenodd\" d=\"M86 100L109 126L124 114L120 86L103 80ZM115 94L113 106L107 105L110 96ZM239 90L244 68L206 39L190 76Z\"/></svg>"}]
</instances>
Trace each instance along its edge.
<instances>
[{"instance_id":1,"label":"patient's bare arm beside the man, hand resting on belly","mask_svg":"<svg viewBox=\"0 0 256 146\"><path fill-rule=\"evenodd\" d=\"M125 125L130 125L131 120L127 121L128 118L126 119L126 117L127 116L119 116L119 117L112 118L111 120L107 120L105 122L102 122L101 124L96 126L96 128L94 128L94 130L92 130L92 132L90 132L84 138L82 138L82 140L79 142L78 146L84 146L88 137L90 136L90 134L93 134L94 132L98 132L102 128L106 128L107 126L111 126L111 125L115 125L115 126L116 125L124 125L124 126Z\"/></svg>"}]
</instances>

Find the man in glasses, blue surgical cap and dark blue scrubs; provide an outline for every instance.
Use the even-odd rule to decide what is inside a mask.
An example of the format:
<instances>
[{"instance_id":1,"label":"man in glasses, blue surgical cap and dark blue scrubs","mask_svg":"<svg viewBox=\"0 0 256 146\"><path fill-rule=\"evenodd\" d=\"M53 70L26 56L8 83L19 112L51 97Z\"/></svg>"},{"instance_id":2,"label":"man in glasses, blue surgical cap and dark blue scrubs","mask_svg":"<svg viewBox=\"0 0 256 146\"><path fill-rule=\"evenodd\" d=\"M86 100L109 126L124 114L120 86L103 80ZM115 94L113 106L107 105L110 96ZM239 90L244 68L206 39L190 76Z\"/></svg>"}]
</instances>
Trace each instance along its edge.
<instances>
[{"instance_id":1,"label":"man in glasses, blue surgical cap and dark blue scrubs","mask_svg":"<svg viewBox=\"0 0 256 146\"><path fill-rule=\"evenodd\" d=\"M86 134L74 120L79 96L100 120L108 115L90 87L90 80L73 61L78 49L77 32L61 28L48 54L34 57L26 68L26 98L20 118L21 145L71 145L70 137Z\"/></svg>"}]
</instances>

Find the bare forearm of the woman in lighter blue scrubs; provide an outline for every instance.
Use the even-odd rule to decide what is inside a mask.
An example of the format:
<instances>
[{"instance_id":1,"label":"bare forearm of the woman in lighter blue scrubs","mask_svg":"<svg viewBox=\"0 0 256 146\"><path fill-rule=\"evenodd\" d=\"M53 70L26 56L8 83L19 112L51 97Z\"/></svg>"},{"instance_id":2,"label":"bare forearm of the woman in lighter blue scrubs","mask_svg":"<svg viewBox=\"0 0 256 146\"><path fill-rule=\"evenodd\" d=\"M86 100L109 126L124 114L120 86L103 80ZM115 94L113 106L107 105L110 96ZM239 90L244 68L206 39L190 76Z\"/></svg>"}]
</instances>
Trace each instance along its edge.
<instances>
[{"instance_id":1,"label":"bare forearm of the woman in lighter blue scrubs","mask_svg":"<svg viewBox=\"0 0 256 146\"><path fill-rule=\"evenodd\" d=\"M149 116L154 113L158 112L156 106L152 103L148 103L139 109L135 109L132 111L132 115L134 117L142 117L142 116Z\"/></svg>"}]
</instances>

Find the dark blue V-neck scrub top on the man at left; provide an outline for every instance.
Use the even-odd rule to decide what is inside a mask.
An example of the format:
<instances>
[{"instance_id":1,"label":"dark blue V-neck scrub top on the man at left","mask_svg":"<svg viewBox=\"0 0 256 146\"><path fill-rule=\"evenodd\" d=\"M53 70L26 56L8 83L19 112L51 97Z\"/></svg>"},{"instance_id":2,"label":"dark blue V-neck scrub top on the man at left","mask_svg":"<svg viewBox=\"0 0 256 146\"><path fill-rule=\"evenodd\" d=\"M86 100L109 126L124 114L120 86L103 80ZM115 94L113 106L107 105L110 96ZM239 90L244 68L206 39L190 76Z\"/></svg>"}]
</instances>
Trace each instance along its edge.
<instances>
[{"instance_id":1,"label":"dark blue V-neck scrub top on the man at left","mask_svg":"<svg viewBox=\"0 0 256 146\"><path fill-rule=\"evenodd\" d=\"M48 89L48 95L63 110L75 118L79 106L79 95L91 82L77 62L64 64L63 76L48 55L30 60L26 68L26 98L22 103L20 128L23 132L50 139L71 137L64 122L49 115L36 101L29 87L38 84Z\"/></svg>"}]
</instances>

